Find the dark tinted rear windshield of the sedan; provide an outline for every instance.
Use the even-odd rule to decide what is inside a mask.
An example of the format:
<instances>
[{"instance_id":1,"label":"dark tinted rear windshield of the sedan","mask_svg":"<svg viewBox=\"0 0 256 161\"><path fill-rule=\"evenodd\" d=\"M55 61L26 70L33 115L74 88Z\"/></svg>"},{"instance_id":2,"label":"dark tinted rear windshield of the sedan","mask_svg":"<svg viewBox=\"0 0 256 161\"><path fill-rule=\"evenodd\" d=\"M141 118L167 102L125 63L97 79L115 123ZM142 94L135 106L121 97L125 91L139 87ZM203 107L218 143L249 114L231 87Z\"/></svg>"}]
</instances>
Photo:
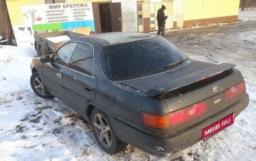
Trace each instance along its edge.
<instances>
[{"instance_id":1,"label":"dark tinted rear windshield of the sedan","mask_svg":"<svg viewBox=\"0 0 256 161\"><path fill-rule=\"evenodd\" d=\"M103 47L100 62L109 80L121 81L164 72L167 65L186 58L170 42L158 37Z\"/></svg>"}]
</instances>

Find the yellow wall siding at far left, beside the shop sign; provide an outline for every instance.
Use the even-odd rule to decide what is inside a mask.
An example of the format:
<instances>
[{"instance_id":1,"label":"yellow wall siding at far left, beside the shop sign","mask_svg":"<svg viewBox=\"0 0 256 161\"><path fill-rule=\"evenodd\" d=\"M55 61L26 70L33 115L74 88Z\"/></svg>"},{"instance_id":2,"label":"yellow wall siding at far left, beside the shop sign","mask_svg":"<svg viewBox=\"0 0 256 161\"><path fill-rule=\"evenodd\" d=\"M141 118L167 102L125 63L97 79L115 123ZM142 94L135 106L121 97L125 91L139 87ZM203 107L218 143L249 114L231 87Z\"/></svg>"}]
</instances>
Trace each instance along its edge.
<instances>
[{"instance_id":1,"label":"yellow wall siding at far left, beside the shop sign","mask_svg":"<svg viewBox=\"0 0 256 161\"><path fill-rule=\"evenodd\" d=\"M10 20L12 25L24 24L20 6L30 5L30 4L31 4L31 1L29 0L26 0L26 1L6 0L6 5L7 5L8 13L10 15ZM43 0L34 0L33 4L43 4Z\"/></svg>"}]
</instances>

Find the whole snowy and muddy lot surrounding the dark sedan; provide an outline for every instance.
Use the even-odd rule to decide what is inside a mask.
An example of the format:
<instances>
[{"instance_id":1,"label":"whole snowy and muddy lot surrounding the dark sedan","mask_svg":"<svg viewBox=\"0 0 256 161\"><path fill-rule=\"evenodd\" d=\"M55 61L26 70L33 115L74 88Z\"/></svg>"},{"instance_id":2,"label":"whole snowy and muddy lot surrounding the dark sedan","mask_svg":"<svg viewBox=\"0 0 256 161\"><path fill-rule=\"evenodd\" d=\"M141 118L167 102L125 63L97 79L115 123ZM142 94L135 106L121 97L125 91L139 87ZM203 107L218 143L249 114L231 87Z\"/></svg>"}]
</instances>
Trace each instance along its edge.
<instances>
[{"instance_id":1,"label":"whole snowy and muddy lot surrounding the dark sedan","mask_svg":"<svg viewBox=\"0 0 256 161\"><path fill-rule=\"evenodd\" d=\"M256 21L243 21L166 32L166 38L195 61L236 65L245 78L250 103L235 118L234 125L165 158L131 145L115 155L104 153L94 139L92 127L79 114L58 99L35 96L29 84L35 50L33 54L29 48L1 49L2 53L12 54L0 60L0 160L254 160L255 26Z\"/></svg>"}]
</instances>

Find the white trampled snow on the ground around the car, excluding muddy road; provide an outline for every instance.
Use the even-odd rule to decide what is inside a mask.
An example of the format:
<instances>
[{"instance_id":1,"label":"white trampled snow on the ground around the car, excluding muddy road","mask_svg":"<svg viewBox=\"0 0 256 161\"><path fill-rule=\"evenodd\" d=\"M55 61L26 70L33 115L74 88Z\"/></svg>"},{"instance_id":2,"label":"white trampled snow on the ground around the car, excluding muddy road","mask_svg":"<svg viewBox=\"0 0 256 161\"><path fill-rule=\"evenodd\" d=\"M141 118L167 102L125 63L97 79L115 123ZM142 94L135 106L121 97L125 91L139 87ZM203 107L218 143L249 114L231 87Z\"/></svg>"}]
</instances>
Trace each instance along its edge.
<instances>
[{"instance_id":1,"label":"white trampled snow on the ground around the car, excluding muddy road","mask_svg":"<svg viewBox=\"0 0 256 161\"><path fill-rule=\"evenodd\" d=\"M255 11L249 16L256 16ZM243 13L245 17L245 13ZM241 15L241 14L240 14ZM239 15L239 17L241 17ZM252 20L252 18L244 20ZM238 40L255 43L255 31L241 33ZM242 52L242 50L240 51ZM243 54L243 53L241 53ZM58 99L42 99L30 88L33 47L0 45L0 160L255 160L256 158L256 69L255 55L220 57L243 73L250 95L249 106L234 125L207 142L198 142L167 158L148 155L133 146L108 155L99 148L91 127ZM191 58L213 62L213 58L192 53Z\"/></svg>"}]
</instances>

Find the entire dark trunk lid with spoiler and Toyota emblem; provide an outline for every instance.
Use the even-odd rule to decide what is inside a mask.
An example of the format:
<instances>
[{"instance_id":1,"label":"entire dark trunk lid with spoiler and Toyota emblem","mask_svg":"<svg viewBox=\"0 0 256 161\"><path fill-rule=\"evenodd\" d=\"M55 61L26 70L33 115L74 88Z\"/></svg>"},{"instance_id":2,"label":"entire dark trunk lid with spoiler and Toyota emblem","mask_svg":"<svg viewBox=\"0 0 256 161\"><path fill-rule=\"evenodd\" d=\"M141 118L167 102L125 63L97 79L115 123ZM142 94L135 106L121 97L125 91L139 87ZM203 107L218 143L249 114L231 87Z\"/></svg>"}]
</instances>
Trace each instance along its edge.
<instances>
[{"instance_id":1,"label":"entire dark trunk lid with spoiler and Toyota emblem","mask_svg":"<svg viewBox=\"0 0 256 161\"><path fill-rule=\"evenodd\" d=\"M193 61L173 71L120 83L144 91L149 97L162 98L170 112L202 100L211 108L225 107L228 102L223 101L226 99L224 91L243 81L241 73L232 70L234 67L230 63L212 65Z\"/></svg>"}]
</instances>

